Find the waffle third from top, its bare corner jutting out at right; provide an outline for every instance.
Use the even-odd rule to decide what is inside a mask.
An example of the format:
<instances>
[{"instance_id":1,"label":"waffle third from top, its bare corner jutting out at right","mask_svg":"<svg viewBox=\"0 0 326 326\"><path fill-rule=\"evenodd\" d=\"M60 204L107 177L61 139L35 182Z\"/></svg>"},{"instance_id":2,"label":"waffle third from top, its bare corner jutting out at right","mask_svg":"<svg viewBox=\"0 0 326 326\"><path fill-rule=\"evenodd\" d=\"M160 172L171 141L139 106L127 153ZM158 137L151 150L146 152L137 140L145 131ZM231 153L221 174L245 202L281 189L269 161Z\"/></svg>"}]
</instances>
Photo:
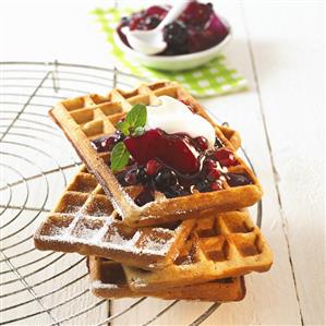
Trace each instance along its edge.
<instances>
[{"instance_id":1,"label":"waffle third from top, its bare corner jutting out at right","mask_svg":"<svg viewBox=\"0 0 326 326\"><path fill-rule=\"evenodd\" d=\"M173 264L165 269L123 268L132 290L157 291L250 271L266 271L271 263L270 247L249 213L243 210L197 219Z\"/></svg>"}]
</instances>

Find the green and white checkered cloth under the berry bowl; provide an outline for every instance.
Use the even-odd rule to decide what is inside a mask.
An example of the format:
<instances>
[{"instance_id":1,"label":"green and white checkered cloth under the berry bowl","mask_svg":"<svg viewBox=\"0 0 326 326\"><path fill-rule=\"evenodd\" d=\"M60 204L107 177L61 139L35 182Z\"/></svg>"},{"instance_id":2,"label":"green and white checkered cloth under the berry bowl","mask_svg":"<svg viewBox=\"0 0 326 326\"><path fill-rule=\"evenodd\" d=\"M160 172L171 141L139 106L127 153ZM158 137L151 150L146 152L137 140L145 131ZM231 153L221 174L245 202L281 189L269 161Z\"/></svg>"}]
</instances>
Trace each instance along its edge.
<instances>
[{"instance_id":1,"label":"green and white checkered cloth under the berry bowl","mask_svg":"<svg viewBox=\"0 0 326 326\"><path fill-rule=\"evenodd\" d=\"M122 16L131 14L131 9L96 9L96 21L107 35L110 51L117 59L117 67L128 73L145 76L150 81L178 81L191 94L197 97L224 95L246 88L246 80L237 70L227 68L226 58L219 55L208 63L186 71L158 71L137 62L130 62L124 52L116 45L113 33Z\"/></svg>"}]
</instances>

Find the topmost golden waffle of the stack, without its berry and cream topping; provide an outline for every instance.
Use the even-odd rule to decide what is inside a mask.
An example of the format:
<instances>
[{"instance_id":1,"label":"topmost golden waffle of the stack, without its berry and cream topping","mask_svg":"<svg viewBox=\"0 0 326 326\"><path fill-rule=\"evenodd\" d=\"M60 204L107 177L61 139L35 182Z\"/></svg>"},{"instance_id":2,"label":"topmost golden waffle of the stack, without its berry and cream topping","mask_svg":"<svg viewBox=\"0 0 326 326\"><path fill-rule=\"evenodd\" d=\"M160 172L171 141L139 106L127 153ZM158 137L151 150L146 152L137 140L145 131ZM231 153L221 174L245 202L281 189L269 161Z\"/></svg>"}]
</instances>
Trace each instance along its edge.
<instances>
[{"instance_id":1,"label":"topmost golden waffle of the stack, without its berry and cream topping","mask_svg":"<svg viewBox=\"0 0 326 326\"><path fill-rule=\"evenodd\" d=\"M167 95L185 101L193 112L207 119L215 128L216 135L225 146L232 148L218 126L183 88L177 83L155 83L141 85L132 92L111 90L108 96L88 95L67 99L58 104L50 116L64 131L76 152L95 174L112 204L124 221L133 226L148 226L201 217L210 212L228 212L243 208L256 203L262 196L257 179L241 158L234 155L239 165L229 171L246 174L252 184L230 186L226 181L220 191L195 193L188 196L167 198L155 192L155 201L142 207L134 198L141 186L121 186L107 165L107 156L99 155L90 145L90 141L114 132L114 125L135 104L155 105L157 97Z\"/></svg>"}]
</instances>

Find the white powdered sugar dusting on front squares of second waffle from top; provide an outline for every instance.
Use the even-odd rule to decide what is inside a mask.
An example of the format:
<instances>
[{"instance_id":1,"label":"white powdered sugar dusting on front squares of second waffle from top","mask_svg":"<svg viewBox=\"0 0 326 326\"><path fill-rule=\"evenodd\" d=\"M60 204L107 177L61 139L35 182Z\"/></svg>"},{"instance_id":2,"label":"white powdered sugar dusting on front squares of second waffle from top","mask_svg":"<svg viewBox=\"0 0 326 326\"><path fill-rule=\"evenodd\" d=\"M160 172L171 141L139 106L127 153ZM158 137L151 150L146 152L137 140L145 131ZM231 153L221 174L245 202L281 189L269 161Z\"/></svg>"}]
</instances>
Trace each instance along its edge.
<instances>
[{"instance_id":1,"label":"white powdered sugar dusting on front squares of second waffle from top","mask_svg":"<svg viewBox=\"0 0 326 326\"><path fill-rule=\"evenodd\" d=\"M148 229L147 231L137 229L135 232L133 230L117 221L112 215L99 218L77 214L68 227L55 226L50 233L41 234L39 239L50 242L96 245L135 255L165 256L178 233L177 230L164 228L153 228L150 232Z\"/></svg>"}]
</instances>

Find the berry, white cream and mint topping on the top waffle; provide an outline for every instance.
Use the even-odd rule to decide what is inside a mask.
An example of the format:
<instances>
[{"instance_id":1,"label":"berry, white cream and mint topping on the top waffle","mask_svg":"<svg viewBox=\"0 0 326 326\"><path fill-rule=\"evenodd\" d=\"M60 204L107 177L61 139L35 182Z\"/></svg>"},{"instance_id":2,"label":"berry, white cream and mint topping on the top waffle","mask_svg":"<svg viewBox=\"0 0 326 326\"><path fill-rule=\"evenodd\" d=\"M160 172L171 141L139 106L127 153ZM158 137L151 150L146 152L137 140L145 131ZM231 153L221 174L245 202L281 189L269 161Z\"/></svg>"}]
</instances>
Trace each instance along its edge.
<instances>
[{"instance_id":1,"label":"berry, white cream and mint topping on the top waffle","mask_svg":"<svg viewBox=\"0 0 326 326\"><path fill-rule=\"evenodd\" d=\"M222 147L213 125L169 96L159 106L135 105L117 124L113 134L93 140L98 153L112 152L110 167L123 186L142 185L138 206L155 200L158 190L167 198L197 192L251 184L245 174L231 173L233 152ZM164 129L164 130L162 130Z\"/></svg>"}]
</instances>

